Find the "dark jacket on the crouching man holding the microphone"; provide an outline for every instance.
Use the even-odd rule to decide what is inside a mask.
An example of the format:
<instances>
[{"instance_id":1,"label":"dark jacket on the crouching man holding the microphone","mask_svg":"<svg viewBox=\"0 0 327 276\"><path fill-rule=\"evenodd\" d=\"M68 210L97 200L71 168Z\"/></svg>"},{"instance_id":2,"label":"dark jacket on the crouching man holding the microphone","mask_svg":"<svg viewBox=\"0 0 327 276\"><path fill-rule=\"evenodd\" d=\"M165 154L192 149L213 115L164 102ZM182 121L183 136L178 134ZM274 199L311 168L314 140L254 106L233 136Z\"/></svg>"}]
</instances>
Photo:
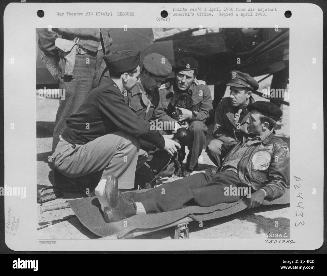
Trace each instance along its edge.
<instances>
[{"instance_id":1,"label":"dark jacket on the crouching man holding the microphone","mask_svg":"<svg viewBox=\"0 0 327 276\"><path fill-rule=\"evenodd\" d=\"M150 130L150 123L138 117L126 104L111 78L104 78L66 120L62 138L72 144L85 144L95 138L123 130L129 134L164 148L159 131Z\"/></svg>"}]
</instances>

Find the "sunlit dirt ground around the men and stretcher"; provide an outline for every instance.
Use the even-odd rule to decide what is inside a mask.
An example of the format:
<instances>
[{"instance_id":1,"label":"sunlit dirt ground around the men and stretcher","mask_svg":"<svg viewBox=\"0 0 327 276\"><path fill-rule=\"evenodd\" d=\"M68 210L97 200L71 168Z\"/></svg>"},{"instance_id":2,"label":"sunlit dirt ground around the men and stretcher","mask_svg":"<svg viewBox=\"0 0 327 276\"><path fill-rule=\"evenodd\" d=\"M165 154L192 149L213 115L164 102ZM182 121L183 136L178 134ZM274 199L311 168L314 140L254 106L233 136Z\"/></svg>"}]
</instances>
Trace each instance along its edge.
<instances>
[{"instance_id":1,"label":"sunlit dirt ground around the men and stretcher","mask_svg":"<svg viewBox=\"0 0 327 276\"><path fill-rule=\"evenodd\" d=\"M258 77L260 79L260 77ZM270 85L271 79L260 83L260 88ZM213 90L213 87L210 86ZM226 92L228 96L228 91ZM264 100L254 95L256 100ZM52 186L53 176L48 162L48 156L51 155L52 134L57 108L59 106L58 99L41 99L36 95L36 124L37 124L37 184ZM277 135L286 138L289 142L289 107L284 106L284 116L282 128L277 130ZM205 146L213 139L213 125L209 126L209 134ZM213 163L207 154L202 151L203 162L199 169L201 170ZM44 205L64 203L67 199L75 199L84 197L82 193L64 192L61 198L44 203ZM88 230L78 219L73 216L74 213L70 208L40 212L40 204L36 204L38 218L36 227L49 225L38 230L39 239L95 239L99 236ZM56 220L67 218L66 221L56 223ZM275 227L275 221L278 221L278 227ZM289 204L283 205L266 205L258 208L245 209L239 213L202 222L194 221L189 223L190 239L224 239L224 238L254 238L262 239L264 234L286 234L290 237L289 227ZM142 235L136 238L140 239L173 239L174 228L168 228L157 232Z\"/></svg>"}]
</instances>

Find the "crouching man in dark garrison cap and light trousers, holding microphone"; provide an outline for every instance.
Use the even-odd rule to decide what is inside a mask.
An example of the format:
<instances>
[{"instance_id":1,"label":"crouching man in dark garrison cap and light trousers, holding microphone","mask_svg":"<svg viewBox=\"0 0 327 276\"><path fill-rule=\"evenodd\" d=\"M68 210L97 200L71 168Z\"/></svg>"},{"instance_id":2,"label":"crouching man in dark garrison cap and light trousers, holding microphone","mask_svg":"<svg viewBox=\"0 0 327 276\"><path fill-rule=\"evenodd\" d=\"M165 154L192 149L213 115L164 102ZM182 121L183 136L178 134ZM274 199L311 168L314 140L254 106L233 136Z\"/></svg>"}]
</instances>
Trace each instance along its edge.
<instances>
[{"instance_id":1,"label":"crouching man in dark garrison cap and light trousers, holding microphone","mask_svg":"<svg viewBox=\"0 0 327 276\"><path fill-rule=\"evenodd\" d=\"M118 178L120 189L134 187L135 170L147 159L139 150L140 138L171 155L180 147L150 130L149 122L135 116L124 101L123 93L139 82L140 51L116 52L104 60L110 78L103 79L70 115L52 155L55 168L89 193L94 187L86 187L85 176L96 179L95 195L102 208L108 206L104 188L109 175Z\"/></svg>"}]
</instances>

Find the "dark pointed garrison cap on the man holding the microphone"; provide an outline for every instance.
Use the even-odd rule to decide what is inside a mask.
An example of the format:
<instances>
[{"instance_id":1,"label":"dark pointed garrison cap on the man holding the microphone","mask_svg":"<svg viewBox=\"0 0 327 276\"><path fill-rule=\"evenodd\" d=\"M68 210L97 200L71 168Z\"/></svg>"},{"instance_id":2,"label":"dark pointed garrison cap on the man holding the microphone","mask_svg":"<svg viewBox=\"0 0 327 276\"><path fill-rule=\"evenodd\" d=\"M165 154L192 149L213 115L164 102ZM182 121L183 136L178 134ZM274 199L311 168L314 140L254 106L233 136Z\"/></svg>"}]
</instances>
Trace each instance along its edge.
<instances>
[{"instance_id":1,"label":"dark pointed garrison cap on the man holding the microphone","mask_svg":"<svg viewBox=\"0 0 327 276\"><path fill-rule=\"evenodd\" d=\"M140 51L122 50L103 57L110 73L134 70L140 63Z\"/></svg>"}]
</instances>

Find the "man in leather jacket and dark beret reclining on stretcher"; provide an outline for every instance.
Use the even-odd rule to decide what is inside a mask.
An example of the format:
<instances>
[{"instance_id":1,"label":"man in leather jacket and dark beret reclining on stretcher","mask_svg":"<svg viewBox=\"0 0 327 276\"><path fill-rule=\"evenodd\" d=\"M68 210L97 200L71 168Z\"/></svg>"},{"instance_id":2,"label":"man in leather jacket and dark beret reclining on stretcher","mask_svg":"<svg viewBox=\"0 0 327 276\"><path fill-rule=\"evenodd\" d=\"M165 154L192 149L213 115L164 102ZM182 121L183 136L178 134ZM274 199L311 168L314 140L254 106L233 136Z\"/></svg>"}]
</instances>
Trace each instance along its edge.
<instances>
[{"instance_id":1,"label":"man in leather jacket and dark beret reclining on stretcher","mask_svg":"<svg viewBox=\"0 0 327 276\"><path fill-rule=\"evenodd\" d=\"M273 130L282 111L264 101L248 109L250 117L244 123L249 134L231 149L216 173L196 173L141 193L119 192L117 179L109 176L105 186L107 204L101 203L106 222L190 205L232 203L243 196L249 198L251 208L260 206L264 199L283 195L289 187L289 149Z\"/></svg>"}]
</instances>

